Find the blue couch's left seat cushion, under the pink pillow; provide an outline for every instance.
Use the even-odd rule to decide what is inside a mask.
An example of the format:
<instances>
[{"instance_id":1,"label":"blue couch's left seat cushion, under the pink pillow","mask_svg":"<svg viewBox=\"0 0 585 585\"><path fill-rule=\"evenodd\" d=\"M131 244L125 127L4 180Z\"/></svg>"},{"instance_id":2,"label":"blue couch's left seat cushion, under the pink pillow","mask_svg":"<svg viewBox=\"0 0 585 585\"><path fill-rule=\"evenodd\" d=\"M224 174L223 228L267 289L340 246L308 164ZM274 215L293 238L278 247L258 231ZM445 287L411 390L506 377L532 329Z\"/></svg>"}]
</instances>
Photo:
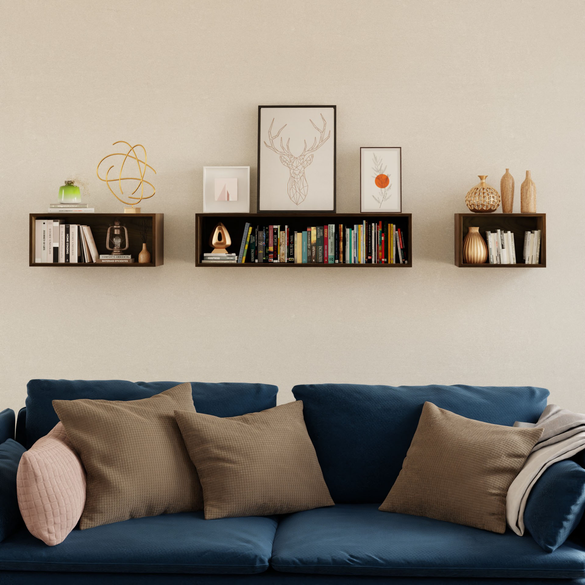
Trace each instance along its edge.
<instances>
[{"instance_id":1,"label":"blue couch's left seat cushion, under the pink pillow","mask_svg":"<svg viewBox=\"0 0 585 585\"><path fill-rule=\"evenodd\" d=\"M57 546L23 527L0 543L0 570L261 573L276 526L275 518L205 520L203 512L180 512L75 529Z\"/></svg>"}]
</instances>

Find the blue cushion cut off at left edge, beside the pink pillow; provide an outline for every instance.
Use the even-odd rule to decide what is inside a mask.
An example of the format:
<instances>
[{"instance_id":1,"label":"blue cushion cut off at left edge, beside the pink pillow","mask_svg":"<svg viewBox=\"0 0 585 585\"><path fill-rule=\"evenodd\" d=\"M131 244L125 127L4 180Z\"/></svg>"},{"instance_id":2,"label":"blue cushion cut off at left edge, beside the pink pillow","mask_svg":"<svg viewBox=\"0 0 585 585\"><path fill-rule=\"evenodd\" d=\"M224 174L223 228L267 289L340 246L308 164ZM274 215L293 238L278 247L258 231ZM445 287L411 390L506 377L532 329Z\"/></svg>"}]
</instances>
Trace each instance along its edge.
<instances>
[{"instance_id":1,"label":"blue cushion cut off at left edge, beside the pink pillow","mask_svg":"<svg viewBox=\"0 0 585 585\"><path fill-rule=\"evenodd\" d=\"M16 472L25 448L13 439L0 445L0 542L22 524L16 499Z\"/></svg>"}]
</instances>

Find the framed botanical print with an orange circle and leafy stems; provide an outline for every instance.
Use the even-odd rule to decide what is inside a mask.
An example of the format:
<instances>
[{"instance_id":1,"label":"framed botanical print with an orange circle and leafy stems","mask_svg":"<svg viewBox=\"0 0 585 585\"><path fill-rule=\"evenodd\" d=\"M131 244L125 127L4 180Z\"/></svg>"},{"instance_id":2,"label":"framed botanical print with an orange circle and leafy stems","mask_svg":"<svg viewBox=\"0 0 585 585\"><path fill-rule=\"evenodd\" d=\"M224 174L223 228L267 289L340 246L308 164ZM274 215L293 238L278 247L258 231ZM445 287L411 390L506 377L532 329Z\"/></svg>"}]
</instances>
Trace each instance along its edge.
<instances>
[{"instance_id":1,"label":"framed botanical print with an orange circle and leafy stems","mask_svg":"<svg viewBox=\"0 0 585 585\"><path fill-rule=\"evenodd\" d=\"M400 146L360 148L360 211L402 212Z\"/></svg>"}]
</instances>

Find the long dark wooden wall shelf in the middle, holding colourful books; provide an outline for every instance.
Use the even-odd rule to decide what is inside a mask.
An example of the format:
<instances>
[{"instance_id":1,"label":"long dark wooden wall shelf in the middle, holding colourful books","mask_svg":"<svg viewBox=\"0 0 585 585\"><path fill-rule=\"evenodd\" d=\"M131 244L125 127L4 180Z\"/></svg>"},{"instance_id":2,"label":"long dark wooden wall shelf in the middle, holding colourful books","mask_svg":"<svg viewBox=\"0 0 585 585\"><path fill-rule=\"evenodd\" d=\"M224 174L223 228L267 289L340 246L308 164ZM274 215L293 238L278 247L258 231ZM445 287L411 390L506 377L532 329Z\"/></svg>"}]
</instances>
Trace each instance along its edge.
<instances>
[{"instance_id":1,"label":"long dark wooden wall shelf in the middle, holding colourful books","mask_svg":"<svg viewBox=\"0 0 585 585\"><path fill-rule=\"evenodd\" d=\"M318 214L196 214L196 226L197 226L197 243L196 243L196 259L195 266L206 266L206 267L217 267L218 264L203 264L203 254L212 251L212 247L209 246L209 238L212 235L215 226L221 222L225 225L232 245L229 247L228 252L234 252L238 254L240 249L240 243L242 242L242 236L244 228L247 222L250 223L254 228L256 226L269 226L269 225L288 225L290 230L302 232L309 226L322 226L328 223L334 223L339 225L353 226L355 224L361 224L363 221L367 222L388 222L394 223L397 228L401 229L402 234L406 240L405 249L407 254L407 263L404 264L388 264L388 263L377 263L377 264L319 264L319 263L289 263L289 262L250 262L246 260L243 264L222 264L221 266L229 267L256 267L256 266L270 266L270 267L311 267L311 268L333 268L333 267L344 267L344 268L410 268L412 267L412 214L329 214L329 213L318 213Z\"/></svg>"}]
</instances>

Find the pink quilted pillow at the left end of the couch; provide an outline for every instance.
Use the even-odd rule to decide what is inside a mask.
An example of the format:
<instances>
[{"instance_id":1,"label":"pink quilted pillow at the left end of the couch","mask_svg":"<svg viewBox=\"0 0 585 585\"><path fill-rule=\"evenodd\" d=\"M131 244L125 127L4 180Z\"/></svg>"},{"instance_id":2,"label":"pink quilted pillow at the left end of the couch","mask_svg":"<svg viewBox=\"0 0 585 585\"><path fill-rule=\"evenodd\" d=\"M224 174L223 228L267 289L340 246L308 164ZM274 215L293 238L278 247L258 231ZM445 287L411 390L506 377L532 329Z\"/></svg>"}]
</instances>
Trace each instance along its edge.
<instances>
[{"instance_id":1,"label":"pink quilted pillow at the left end of the couch","mask_svg":"<svg viewBox=\"0 0 585 585\"><path fill-rule=\"evenodd\" d=\"M77 525L85 471L61 422L20 459L16 493L26 528L45 544L58 545Z\"/></svg>"}]
</instances>

